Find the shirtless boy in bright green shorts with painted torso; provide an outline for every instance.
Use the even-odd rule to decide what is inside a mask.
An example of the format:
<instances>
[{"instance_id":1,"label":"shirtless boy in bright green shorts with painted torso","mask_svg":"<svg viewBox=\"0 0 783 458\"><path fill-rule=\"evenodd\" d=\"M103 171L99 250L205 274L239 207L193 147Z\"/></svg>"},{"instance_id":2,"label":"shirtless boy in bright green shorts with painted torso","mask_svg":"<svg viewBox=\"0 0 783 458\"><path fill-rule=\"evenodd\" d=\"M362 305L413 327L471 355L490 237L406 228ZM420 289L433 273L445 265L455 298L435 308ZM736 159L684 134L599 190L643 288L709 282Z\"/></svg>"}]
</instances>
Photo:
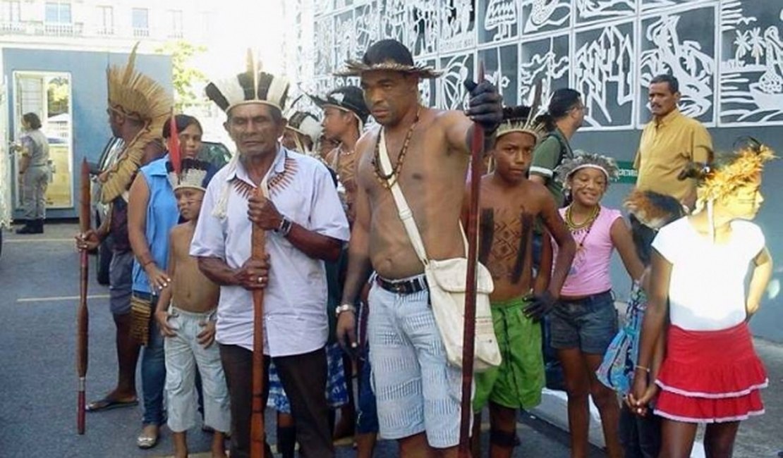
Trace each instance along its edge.
<instances>
[{"instance_id":1,"label":"shirtless boy in bright green shorts with painted torso","mask_svg":"<svg viewBox=\"0 0 783 458\"><path fill-rule=\"evenodd\" d=\"M503 109L503 123L493 148L495 170L482 177L478 203L479 261L495 283L489 299L503 355L500 367L475 376L474 412L480 416L489 402L492 458L511 457L517 442L517 409L530 409L541 402L545 380L541 327L536 321L554 305L576 251L550 192L527 179L540 138L539 127L530 116L526 106ZM551 280L545 267L546 273L533 277L536 219L543 222L559 247ZM478 417L474 424L480 423Z\"/></svg>"}]
</instances>

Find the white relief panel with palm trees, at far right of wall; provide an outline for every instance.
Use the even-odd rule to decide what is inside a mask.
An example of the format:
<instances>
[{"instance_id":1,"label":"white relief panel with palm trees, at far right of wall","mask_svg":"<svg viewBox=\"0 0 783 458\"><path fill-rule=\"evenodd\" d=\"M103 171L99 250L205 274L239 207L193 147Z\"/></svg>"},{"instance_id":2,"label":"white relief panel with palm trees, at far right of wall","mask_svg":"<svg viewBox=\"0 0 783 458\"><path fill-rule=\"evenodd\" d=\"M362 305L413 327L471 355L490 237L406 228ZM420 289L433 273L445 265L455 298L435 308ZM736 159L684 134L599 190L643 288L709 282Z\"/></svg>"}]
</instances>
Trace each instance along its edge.
<instances>
[{"instance_id":1,"label":"white relief panel with palm trees, at far right of wall","mask_svg":"<svg viewBox=\"0 0 783 458\"><path fill-rule=\"evenodd\" d=\"M720 120L783 124L783 2L723 2Z\"/></svg>"}]
</instances>

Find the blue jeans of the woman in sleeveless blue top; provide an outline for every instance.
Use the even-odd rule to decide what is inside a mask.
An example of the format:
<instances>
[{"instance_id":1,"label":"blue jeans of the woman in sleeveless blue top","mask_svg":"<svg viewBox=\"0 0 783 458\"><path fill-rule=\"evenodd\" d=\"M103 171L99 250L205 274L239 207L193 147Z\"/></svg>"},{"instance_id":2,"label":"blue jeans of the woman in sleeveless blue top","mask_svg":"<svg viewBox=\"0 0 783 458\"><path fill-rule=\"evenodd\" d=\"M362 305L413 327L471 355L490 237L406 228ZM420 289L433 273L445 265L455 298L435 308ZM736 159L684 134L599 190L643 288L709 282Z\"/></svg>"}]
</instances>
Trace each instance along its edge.
<instances>
[{"instance_id":1,"label":"blue jeans of the woman in sleeveless blue top","mask_svg":"<svg viewBox=\"0 0 783 458\"><path fill-rule=\"evenodd\" d=\"M153 310L157 305L157 296L134 291L133 295L141 299L149 299ZM150 322L150 340L142 354L142 393L144 396L144 416L142 423L164 424L163 389L166 385L166 354L164 338L157 321Z\"/></svg>"}]
</instances>

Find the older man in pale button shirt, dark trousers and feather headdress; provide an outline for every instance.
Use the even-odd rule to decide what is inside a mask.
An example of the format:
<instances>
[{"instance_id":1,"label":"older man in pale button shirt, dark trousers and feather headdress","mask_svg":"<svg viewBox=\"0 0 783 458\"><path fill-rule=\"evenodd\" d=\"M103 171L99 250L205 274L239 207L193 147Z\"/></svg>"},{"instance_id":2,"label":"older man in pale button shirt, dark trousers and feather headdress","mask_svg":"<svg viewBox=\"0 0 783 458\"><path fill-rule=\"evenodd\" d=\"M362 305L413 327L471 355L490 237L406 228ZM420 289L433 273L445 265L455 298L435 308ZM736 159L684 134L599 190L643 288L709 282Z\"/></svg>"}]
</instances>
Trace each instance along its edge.
<instances>
[{"instance_id":1,"label":"older man in pale button shirt, dark trousers and feather headdress","mask_svg":"<svg viewBox=\"0 0 783 458\"><path fill-rule=\"evenodd\" d=\"M278 141L286 125L285 77L262 72L250 55L247 70L211 82L206 92L226 112L224 127L237 152L207 187L190 254L220 285L215 340L231 398L231 456L250 452L251 375L258 351L275 363L302 455L329 458L334 446L323 395L329 331L324 260L339 256L348 221L327 167ZM266 232L268 261L251 258L254 224ZM260 330L254 330L251 292L259 288L265 342L254 349L254 332ZM268 369L265 364L266 380Z\"/></svg>"}]
</instances>

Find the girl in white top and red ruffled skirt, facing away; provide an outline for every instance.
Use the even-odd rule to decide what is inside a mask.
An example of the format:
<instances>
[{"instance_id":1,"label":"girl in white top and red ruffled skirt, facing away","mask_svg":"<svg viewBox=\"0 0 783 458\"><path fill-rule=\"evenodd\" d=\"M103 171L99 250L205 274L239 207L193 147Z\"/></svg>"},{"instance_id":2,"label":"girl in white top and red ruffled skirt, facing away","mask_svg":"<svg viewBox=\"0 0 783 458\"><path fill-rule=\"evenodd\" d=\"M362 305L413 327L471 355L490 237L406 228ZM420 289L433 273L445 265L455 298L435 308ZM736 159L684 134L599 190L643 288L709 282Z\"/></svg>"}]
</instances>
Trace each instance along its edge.
<instances>
[{"instance_id":1,"label":"girl in white top and red ruffled skirt, facing away","mask_svg":"<svg viewBox=\"0 0 783 458\"><path fill-rule=\"evenodd\" d=\"M644 414L657 395L662 457L690 456L699 423L707 424L707 456L731 456L740 420L764 411L760 388L767 386L767 373L747 321L772 274L764 236L751 220L763 202L763 163L773 157L754 144L721 166L698 169L697 211L662 228L653 242L648 309L628 401ZM664 338L662 354L656 344Z\"/></svg>"}]
</instances>

